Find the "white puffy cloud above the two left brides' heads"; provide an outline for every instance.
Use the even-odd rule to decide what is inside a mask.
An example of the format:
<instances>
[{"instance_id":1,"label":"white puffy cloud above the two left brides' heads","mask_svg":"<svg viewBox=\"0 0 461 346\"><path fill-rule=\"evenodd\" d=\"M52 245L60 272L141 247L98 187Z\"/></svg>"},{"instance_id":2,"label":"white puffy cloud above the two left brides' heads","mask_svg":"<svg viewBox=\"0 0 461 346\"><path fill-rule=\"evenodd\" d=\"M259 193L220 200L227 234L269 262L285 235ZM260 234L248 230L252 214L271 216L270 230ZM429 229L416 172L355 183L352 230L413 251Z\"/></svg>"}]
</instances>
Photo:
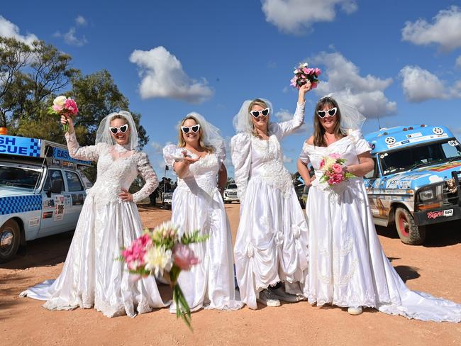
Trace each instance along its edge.
<instances>
[{"instance_id":1,"label":"white puffy cloud above the two left brides' heads","mask_svg":"<svg viewBox=\"0 0 461 346\"><path fill-rule=\"evenodd\" d=\"M199 104L214 94L206 79L198 82L189 78L177 57L162 46L148 51L135 50L130 62L140 69L139 91L143 99L171 98Z\"/></svg>"}]
</instances>

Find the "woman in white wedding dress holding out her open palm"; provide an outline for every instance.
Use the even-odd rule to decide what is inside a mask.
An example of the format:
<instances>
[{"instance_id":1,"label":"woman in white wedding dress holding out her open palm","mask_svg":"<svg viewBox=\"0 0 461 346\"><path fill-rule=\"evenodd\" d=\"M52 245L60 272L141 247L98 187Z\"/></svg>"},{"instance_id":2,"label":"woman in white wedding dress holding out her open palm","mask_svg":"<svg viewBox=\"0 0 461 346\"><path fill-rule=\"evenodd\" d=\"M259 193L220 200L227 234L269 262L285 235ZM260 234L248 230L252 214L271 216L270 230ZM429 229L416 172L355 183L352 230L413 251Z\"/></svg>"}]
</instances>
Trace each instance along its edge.
<instances>
[{"instance_id":1,"label":"woman in white wedding dress holding out her open palm","mask_svg":"<svg viewBox=\"0 0 461 346\"><path fill-rule=\"evenodd\" d=\"M181 272L178 283L191 311L236 310L242 303L235 299L232 238L221 196L227 182L224 142L218 128L198 113L189 113L178 130L179 144L163 149L178 177L172 222L182 233L199 230L209 237L190 245L200 262ZM174 304L170 311L176 311Z\"/></svg>"}]
</instances>

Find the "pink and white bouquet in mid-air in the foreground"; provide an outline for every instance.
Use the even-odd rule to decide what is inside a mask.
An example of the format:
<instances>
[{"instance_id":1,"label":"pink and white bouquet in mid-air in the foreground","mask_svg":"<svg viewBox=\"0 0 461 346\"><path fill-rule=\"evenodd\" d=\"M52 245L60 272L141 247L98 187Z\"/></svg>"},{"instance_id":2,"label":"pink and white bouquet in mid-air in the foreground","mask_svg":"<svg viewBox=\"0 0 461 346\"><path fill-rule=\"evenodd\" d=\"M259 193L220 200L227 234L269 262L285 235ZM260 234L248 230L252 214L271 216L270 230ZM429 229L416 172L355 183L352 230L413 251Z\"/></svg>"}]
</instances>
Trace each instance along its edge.
<instances>
[{"instance_id":1,"label":"pink and white bouquet in mid-air in the foreground","mask_svg":"<svg viewBox=\"0 0 461 346\"><path fill-rule=\"evenodd\" d=\"M173 289L173 301L176 304L176 316L181 316L191 328L191 311L181 287L177 283L179 273L189 270L199 263L194 251L189 247L193 242L203 242L208 236L199 235L199 230L179 237L178 226L170 222L162 223L153 229L145 228L143 235L122 249L119 259L126 262L132 279L148 275L163 276L170 273Z\"/></svg>"}]
</instances>

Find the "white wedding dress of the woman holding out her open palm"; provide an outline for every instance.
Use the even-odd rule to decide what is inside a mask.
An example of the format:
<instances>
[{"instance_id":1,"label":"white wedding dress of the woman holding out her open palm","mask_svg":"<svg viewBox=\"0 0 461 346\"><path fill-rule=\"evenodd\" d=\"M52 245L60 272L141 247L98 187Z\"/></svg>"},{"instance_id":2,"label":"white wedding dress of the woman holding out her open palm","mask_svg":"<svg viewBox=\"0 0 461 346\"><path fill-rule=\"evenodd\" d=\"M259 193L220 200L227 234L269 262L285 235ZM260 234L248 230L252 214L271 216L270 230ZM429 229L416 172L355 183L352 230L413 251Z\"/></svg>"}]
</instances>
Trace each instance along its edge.
<instances>
[{"instance_id":1,"label":"white wedding dress of the woman holding out her open palm","mask_svg":"<svg viewBox=\"0 0 461 346\"><path fill-rule=\"evenodd\" d=\"M164 158L172 167L183 157L184 147L167 145ZM188 152L190 157L197 156ZM208 235L205 242L191 244L199 264L179 274L178 283L191 311L206 309L236 310L242 303L235 299L233 252L230 225L223 199L217 189L218 170L226 159L224 147L189 165L183 179L177 179L173 193L172 222L181 233L199 230ZM170 311L176 311L174 304Z\"/></svg>"}]
</instances>

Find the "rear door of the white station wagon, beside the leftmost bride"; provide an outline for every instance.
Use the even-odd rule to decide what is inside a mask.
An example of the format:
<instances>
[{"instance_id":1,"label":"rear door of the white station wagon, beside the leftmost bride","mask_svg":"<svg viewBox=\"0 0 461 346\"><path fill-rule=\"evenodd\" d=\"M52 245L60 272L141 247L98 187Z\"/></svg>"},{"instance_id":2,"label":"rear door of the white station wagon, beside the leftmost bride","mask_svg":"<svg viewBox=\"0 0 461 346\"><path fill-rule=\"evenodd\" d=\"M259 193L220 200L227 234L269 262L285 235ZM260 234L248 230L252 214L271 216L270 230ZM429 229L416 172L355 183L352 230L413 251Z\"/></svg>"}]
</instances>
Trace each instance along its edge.
<instances>
[{"instance_id":1,"label":"rear door of the white station wagon, beside the leftmost bride","mask_svg":"<svg viewBox=\"0 0 461 346\"><path fill-rule=\"evenodd\" d=\"M66 205L67 223L69 223L70 227L75 228L87 194L82 179L80 179L77 172L65 170L64 175L67 183L66 195L70 196Z\"/></svg>"}]
</instances>

